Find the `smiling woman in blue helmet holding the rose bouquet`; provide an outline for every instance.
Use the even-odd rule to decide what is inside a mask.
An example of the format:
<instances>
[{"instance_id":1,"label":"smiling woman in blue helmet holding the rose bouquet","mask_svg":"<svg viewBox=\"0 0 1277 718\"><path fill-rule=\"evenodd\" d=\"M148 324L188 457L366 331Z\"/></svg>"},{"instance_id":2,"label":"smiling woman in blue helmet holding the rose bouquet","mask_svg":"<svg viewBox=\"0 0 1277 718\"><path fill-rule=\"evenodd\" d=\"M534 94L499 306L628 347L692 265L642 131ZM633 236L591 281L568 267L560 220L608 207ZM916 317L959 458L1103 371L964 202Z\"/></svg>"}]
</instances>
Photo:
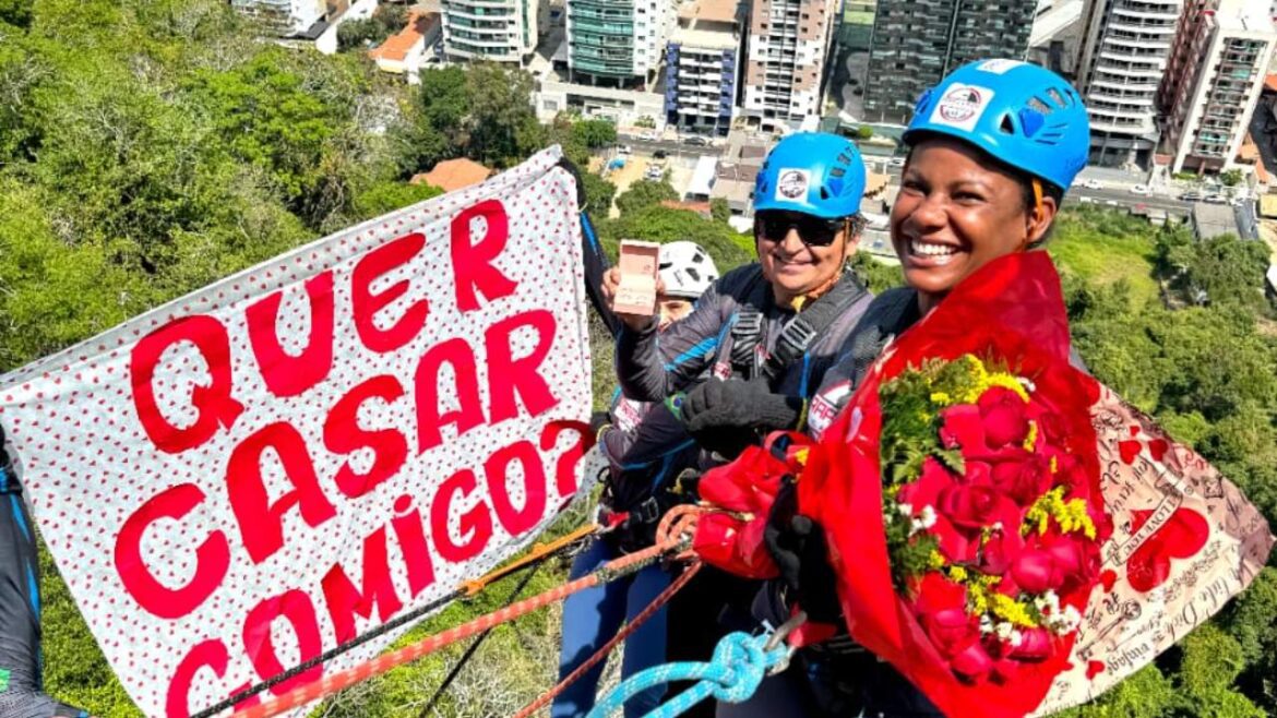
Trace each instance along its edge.
<instances>
[{"instance_id":1,"label":"smiling woman in blue helmet holding the rose bouquet","mask_svg":"<svg viewBox=\"0 0 1277 718\"><path fill-rule=\"evenodd\" d=\"M909 156L891 207L891 243L908 286L876 298L847 353L812 400L808 431L829 425L882 348L992 259L1039 247L1065 190L1085 166L1089 123L1062 78L1028 63L983 60L959 68L923 93L904 133ZM767 548L783 581L771 611L792 602L817 621L842 625L820 526L778 497ZM779 604L779 606L778 606ZM889 664L845 639L799 653L792 668L753 700L719 715L940 715Z\"/></svg>"}]
</instances>

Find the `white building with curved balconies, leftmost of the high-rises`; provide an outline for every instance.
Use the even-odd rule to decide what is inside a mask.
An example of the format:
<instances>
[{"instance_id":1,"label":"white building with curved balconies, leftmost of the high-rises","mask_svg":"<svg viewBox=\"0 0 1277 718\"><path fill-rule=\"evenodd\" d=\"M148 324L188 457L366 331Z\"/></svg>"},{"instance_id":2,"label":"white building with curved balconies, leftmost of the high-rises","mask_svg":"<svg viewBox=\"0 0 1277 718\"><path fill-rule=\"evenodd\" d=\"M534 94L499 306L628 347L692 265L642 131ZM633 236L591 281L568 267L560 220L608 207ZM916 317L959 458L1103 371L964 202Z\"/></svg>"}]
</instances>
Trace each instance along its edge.
<instances>
[{"instance_id":1,"label":"white building with curved balconies, leftmost of the high-rises","mask_svg":"<svg viewBox=\"0 0 1277 718\"><path fill-rule=\"evenodd\" d=\"M522 64L536 49L538 0L443 0L443 57Z\"/></svg>"}]
</instances>

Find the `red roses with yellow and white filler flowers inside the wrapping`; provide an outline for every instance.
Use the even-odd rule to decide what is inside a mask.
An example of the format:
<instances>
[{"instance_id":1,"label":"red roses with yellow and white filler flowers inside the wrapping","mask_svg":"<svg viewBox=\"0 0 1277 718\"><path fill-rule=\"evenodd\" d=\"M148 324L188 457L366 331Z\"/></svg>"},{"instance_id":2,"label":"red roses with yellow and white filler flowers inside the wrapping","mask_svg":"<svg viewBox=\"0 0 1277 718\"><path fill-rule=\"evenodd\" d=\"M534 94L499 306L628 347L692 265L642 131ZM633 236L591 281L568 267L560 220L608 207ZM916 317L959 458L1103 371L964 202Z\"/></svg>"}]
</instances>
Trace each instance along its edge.
<instances>
[{"instance_id":1,"label":"red roses with yellow and white filler flowers inside the wrapping","mask_svg":"<svg viewBox=\"0 0 1277 718\"><path fill-rule=\"evenodd\" d=\"M891 581L953 673L1015 680L1068 654L1112 533L1085 406L973 354L879 390Z\"/></svg>"}]
</instances>

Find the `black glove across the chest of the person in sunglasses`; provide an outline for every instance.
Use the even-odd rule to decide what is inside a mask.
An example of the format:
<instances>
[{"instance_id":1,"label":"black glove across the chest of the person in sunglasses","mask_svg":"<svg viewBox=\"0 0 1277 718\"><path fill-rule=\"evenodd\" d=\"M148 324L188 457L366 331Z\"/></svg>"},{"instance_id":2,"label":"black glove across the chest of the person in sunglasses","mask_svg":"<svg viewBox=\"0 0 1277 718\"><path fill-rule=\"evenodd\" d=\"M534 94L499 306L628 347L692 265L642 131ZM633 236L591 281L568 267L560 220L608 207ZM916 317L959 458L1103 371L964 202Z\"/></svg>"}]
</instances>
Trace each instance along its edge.
<instances>
[{"instance_id":1,"label":"black glove across the chest of the person in sunglasses","mask_svg":"<svg viewBox=\"0 0 1277 718\"><path fill-rule=\"evenodd\" d=\"M713 428L792 429L798 425L803 400L773 393L766 379L707 382L683 399L683 423L692 434Z\"/></svg>"}]
</instances>

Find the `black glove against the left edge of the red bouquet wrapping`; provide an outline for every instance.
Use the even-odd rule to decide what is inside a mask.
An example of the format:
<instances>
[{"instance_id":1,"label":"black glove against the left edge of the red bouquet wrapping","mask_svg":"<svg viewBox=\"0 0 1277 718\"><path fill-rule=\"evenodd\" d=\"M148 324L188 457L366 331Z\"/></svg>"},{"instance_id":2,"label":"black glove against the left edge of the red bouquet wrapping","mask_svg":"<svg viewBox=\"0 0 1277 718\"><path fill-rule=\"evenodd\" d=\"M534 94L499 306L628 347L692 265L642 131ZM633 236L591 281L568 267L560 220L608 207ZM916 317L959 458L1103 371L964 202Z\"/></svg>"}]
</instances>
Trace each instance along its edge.
<instances>
[{"instance_id":1,"label":"black glove against the left edge of the red bouquet wrapping","mask_svg":"<svg viewBox=\"0 0 1277 718\"><path fill-rule=\"evenodd\" d=\"M825 530L810 517L798 514L798 487L785 482L767 515L762 543L780 569L780 579L789 586L789 595L812 621L840 623L843 608L838 602L838 584L829 565Z\"/></svg>"}]
</instances>

